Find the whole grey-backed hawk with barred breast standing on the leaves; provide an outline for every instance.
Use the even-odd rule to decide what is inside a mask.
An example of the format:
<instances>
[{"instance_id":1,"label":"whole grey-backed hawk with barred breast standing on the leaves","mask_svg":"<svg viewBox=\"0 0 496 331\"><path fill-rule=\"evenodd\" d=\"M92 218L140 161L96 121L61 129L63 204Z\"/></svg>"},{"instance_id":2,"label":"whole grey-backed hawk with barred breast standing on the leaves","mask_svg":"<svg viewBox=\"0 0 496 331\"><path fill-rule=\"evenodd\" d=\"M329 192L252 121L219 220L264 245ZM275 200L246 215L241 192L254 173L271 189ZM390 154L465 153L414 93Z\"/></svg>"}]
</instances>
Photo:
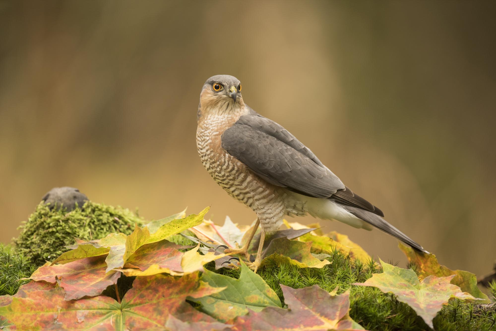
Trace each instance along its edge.
<instances>
[{"instance_id":1,"label":"whole grey-backed hawk with barred breast standing on the leaves","mask_svg":"<svg viewBox=\"0 0 496 331\"><path fill-rule=\"evenodd\" d=\"M261 226L258 252L249 264L255 272L265 234L276 231L285 215L310 214L366 230L377 227L427 252L382 219L380 209L345 186L295 136L249 108L236 77L207 79L200 93L197 121L196 146L203 166L229 195L257 216L248 242L225 252L249 256L248 245L258 224Z\"/></svg>"}]
</instances>

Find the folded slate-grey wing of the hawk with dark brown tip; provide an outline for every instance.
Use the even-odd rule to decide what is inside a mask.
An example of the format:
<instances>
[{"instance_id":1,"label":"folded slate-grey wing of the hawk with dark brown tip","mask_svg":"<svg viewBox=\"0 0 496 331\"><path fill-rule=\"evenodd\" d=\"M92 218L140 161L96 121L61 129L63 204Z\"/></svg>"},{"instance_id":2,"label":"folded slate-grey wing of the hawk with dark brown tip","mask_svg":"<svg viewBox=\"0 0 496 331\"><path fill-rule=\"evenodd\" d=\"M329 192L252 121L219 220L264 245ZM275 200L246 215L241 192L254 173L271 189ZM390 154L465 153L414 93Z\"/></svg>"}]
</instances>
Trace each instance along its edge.
<instances>
[{"instance_id":1,"label":"folded slate-grey wing of the hawk with dark brown tip","mask_svg":"<svg viewBox=\"0 0 496 331\"><path fill-rule=\"evenodd\" d=\"M250 110L222 134L222 148L268 182L316 198L382 211L353 193L295 136Z\"/></svg>"}]
</instances>

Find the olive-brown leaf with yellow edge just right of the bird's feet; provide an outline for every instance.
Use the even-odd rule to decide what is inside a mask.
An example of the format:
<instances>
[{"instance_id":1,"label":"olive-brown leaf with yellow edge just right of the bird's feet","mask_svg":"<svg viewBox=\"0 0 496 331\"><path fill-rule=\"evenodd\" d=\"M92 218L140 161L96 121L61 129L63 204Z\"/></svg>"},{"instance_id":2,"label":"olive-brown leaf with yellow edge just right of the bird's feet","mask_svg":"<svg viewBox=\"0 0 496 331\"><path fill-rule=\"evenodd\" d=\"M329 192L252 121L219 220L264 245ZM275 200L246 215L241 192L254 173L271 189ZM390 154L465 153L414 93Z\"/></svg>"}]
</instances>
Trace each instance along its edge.
<instances>
[{"instance_id":1,"label":"olive-brown leaf with yellow edge just right of the bird's feet","mask_svg":"<svg viewBox=\"0 0 496 331\"><path fill-rule=\"evenodd\" d=\"M322 268L330 264L328 260L320 261L310 254L311 242L301 242L288 238L277 238L270 242L265 250L261 265L270 263L290 263L300 268Z\"/></svg>"}]
</instances>

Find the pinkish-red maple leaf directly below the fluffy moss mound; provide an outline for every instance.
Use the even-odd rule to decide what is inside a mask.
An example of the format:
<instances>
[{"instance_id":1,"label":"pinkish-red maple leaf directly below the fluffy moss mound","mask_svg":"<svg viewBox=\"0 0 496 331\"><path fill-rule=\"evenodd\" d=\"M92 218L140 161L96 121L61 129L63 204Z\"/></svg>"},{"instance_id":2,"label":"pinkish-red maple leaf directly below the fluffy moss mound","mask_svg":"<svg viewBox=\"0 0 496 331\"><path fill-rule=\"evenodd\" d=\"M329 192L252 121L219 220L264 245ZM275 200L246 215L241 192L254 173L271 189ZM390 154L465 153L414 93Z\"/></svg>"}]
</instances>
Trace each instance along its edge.
<instances>
[{"instance_id":1,"label":"pinkish-red maple leaf directly below the fluffy moss mound","mask_svg":"<svg viewBox=\"0 0 496 331\"><path fill-rule=\"evenodd\" d=\"M94 256L72 261L62 265L51 266L47 262L38 268L29 278L44 280L59 285L65 291L65 300L79 299L83 296L101 294L109 285L117 283L121 273L110 271L106 273L105 256Z\"/></svg>"}]
</instances>

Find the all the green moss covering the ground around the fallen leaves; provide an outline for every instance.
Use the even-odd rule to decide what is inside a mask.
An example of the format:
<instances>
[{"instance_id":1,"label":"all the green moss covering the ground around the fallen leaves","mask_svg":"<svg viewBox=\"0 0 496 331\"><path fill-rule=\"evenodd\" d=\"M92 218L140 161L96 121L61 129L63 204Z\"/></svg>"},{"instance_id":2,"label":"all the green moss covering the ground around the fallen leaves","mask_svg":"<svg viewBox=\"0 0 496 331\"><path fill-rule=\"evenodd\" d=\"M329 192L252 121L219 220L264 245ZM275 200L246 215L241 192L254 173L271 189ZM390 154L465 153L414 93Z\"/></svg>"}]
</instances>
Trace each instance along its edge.
<instances>
[{"instance_id":1,"label":"all the green moss covering the ground around the fallen leaves","mask_svg":"<svg viewBox=\"0 0 496 331\"><path fill-rule=\"evenodd\" d=\"M82 208L67 213L63 210L50 210L44 204L38 205L29 220L21 226L22 232L14 240L16 246L0 245L0 295L17 292L22 283L18 279L30 276L45 260L53 260L67 251L65 246L73 244L74 238L98 239L112 232L130 234L134 223L141 225L145 222L120 207L87 202ZM185 245L194 244L179 234L168 239ZM339 250L329 253L327 260L330 264L323 268L298 268L291 264L274 263L260 268L258 274L283 303L284 296L279 284L293 288L317 284L326 291L338 287L338 293L350 289L349 314L366 330L430 330L412 308L399 302L393 294L383 293L376 287L352 285L355 282L365 282L372 274L380 273L378 264L373 261L364 264ZM240 276L238 269L215 270L214 262L206 268L234 278ZM119 278L120 298L131 288L133 279L134 277L124 275ZM490 289L491 299L494 300L496 282L490 284ZM118 299L114 286L107 288L103 294ZM434 319L434 328L436 331L496 331L496 303L473 304L458 299L450 300Z\"/></svg>"}]
</instances>

